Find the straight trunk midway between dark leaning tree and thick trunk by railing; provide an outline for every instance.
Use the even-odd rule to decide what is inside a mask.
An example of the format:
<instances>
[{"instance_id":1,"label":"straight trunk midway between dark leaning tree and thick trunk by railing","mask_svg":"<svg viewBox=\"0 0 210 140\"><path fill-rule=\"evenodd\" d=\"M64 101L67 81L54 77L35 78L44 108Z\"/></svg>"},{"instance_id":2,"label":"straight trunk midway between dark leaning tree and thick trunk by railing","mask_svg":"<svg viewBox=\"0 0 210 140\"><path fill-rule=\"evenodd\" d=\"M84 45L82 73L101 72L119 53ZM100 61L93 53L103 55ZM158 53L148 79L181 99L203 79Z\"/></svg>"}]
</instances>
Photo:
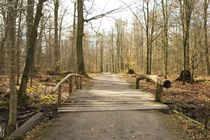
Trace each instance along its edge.
<instances>
[{"instance_id":1,"label":"straight trunk midway between dark leaning tree and thick trunk by railing","mask_svg":"<svg viewBox=\"0 0 210 140\"><path fill-rule=\"evenodd\" d=\"M60 70L60 46L58 43L58 9L59 0L54 0L54 57L55 57L55 71Z\"/></svg>"}]
</instances>

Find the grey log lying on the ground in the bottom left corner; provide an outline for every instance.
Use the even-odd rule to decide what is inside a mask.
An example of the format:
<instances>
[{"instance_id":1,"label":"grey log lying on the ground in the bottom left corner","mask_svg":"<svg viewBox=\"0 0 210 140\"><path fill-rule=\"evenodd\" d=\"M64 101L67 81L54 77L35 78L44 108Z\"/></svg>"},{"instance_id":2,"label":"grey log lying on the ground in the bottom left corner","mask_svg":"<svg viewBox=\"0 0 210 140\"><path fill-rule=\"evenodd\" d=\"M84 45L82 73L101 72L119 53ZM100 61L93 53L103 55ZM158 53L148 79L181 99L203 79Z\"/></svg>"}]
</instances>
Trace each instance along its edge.
<instances>
[{"instance_id":1,"label":"grey log lying on the ground in the bottom left corner","mask_svg":"<svg viewBox=\"0 0 210 140\"><path fill-rule=\"evenodd\" d=\"M42 112L36 113L18 129L16 129L8 138L6 139L23 139L23 136L33 129L43 118L44 114Z\"/></svg>"}]
</instances>

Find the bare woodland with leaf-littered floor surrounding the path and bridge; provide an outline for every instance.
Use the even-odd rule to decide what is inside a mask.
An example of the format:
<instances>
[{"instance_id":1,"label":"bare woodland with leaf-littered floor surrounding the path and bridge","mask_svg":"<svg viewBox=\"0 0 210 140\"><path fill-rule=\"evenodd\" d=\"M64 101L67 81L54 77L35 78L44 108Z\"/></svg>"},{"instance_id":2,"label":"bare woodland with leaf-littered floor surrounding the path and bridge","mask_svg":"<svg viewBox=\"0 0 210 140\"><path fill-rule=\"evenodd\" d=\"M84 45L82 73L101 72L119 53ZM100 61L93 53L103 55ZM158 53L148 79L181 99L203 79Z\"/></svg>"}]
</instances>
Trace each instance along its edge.
<instances>
[{"instance_id":1,"label":"bare woodland with leaf-littered floor surrounding the path and bridge","mask_svg":"<svg viewBox=\"0 0 210 140\"><path fill-rule=\"evenodd\" d=\"M97 1L0 0L0 139L16 129L21 111L53 110L56 95L48 93L66 75L128 71L170 79L164 102L207 132L210 0L118 0L111 8L112 1ZM155 92L148 82L143 87Z\"/></svg>"}]
</instances>

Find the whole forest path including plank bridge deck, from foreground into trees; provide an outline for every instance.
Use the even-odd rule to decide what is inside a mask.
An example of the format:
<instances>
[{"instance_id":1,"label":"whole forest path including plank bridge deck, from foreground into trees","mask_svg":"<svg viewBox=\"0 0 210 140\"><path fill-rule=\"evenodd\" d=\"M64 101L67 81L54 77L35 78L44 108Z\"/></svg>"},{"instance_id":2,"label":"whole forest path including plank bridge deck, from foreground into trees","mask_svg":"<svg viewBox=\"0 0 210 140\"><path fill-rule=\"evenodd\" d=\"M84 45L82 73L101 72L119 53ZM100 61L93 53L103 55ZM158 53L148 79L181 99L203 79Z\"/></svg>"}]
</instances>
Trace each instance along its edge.
<instances>
[{"instance_id":1,"label":"whole forest path including plank bridge deck, from foreground into trees","mask_svg":"<svg viewBox=\"0 0 210 140\"><path fill-rule=\"evenodd\" d=\"M113 74L94 75L90 89L78 90L59 108L37 140L177 140L184 134L168 115L153 109L152 94Z\"/></svg>"}]
</instances>

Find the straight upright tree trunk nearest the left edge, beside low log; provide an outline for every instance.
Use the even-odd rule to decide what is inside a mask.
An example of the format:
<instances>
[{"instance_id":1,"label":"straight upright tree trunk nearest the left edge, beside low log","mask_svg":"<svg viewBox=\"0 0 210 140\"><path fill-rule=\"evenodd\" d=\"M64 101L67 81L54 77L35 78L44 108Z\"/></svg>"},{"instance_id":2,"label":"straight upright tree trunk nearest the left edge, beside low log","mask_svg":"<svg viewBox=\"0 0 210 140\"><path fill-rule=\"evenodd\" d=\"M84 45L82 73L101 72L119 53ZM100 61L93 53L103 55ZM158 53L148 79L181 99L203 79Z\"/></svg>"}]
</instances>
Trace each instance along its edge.
<instances>
[{"instance_id":1,"label":"straight upright tree trunk nearest the left edge, beside low log","mask_svg":"<svg viewBox=\"0 0 210 140\"><path fill-rule=\"evenodd\" d=\"M16 128L17 117L17 90L16 90L16 46L15 46L15 1L8 0L8 42L10 58L10 104L9 104L9 121L7 133L10 134Z\"/></svg>"}]
</instances>

